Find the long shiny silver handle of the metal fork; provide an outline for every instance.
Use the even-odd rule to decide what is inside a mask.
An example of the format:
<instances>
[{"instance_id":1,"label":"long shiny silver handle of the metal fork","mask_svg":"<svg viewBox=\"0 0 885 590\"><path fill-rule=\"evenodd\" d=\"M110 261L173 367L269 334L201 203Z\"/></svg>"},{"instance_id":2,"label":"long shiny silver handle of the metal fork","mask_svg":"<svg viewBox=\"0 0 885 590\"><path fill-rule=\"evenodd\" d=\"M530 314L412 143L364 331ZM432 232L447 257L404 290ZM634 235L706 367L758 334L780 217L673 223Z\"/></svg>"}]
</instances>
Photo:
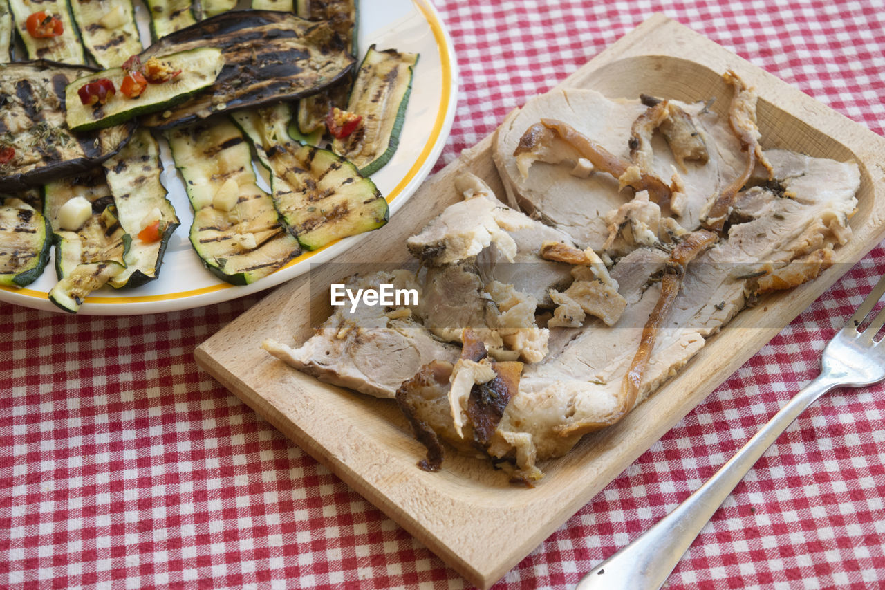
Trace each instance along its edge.
<instances>
[{"instance_id":1,"label":"long shiny silver handle of the metal fork","mask_svg":"<svg viewBox=\"0 0 885 590\"><path fill-rule=\"evenodd\" d=\"M735 485L798 415L843 384L821 375L797 392L713 477L658 524L581 578L576 590L657 590Z\"/></svg>"}]
</instances>

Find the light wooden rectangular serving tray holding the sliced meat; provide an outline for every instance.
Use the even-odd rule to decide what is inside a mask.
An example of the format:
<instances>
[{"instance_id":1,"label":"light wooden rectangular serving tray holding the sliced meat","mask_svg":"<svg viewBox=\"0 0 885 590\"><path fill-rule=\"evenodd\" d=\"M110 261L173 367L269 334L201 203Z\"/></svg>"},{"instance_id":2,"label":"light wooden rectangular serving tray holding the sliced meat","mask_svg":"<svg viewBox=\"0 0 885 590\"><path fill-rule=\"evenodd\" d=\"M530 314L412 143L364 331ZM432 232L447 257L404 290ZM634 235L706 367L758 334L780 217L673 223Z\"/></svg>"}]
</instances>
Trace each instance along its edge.
<instances>
[{"instance_id":1,"label":"light wooden rectangular serving tray holding the sliced meat","mask_svg":"<svg viewBox=\"0 0 885 590\"><path fill-rule=\"evenodd\" d=\"M743 311L624 420L584 437L566 457L543 464L546 475L535 489L510 485L488 461L454 453L447 455L440 473L419 470L415 462L424 448L393 401L320 383L259 347L265 338L289 344L308 338L330 312L328 284L360 262L407 260L405 238L458 200L452 179L461 171L481 176L503 196L491 137L425 182L385 228L340 257L340 263L286 283L205 341L196 349L197 363L467 580L491 586L885 234L885 139L673 20L651 17L562 86L593 88L610 97L645 92L695 101L729 97L721 79L727 69L758 89L766 148L858 162L862 178L858 212L851 219L854 237L836 251L839 264L812 283ZM727 100L717 105L727 108Z\"/></svg>"}]
</instances>

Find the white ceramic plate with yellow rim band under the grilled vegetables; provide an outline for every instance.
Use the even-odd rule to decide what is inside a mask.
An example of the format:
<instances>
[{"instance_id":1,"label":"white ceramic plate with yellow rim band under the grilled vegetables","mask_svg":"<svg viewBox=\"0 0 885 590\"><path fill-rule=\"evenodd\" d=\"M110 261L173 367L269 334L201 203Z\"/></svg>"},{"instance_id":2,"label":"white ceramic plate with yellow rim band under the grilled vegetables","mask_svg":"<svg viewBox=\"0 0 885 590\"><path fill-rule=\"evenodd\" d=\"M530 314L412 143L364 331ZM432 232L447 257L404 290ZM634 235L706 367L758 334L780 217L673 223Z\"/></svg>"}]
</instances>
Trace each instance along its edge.
<instances>
[{"instance_id":1,"label":"white ceramic plate with yellow rim band under the grilled vegetables","mask_svg":"<svg viewBox=\"0 0 885 590\"><path fill-rule=\"evenodd\" d=\"M140 25L145 18L144 7L137 4L136 19ZM358 40L360 55L364 55L372 43L381 50L394 48L420 54L399 147L387 166L372 175L389 202L389 223L396 223L396 210L430 173L449 135L458 94L456 62L450 37L428 0L362 0ZM115 291L104 287L95 291L86 299L80 314L152 314L235 299L301 275L312 265L326 262L357 245L366 236L348 237L317 251L305 252L257 283L245 286L225 283L204 268L190 246L188 231L193 215L165 142L161 141L161 147L165 167L162 181L169 190L169 199L181 219L181 226L166 248L160 276L135 289ZM61 312L47 299L47 293L57 282L53 264L50 260L42 276L24 289L0 286L0 301Z\"/></svg>"}]
</instances>

